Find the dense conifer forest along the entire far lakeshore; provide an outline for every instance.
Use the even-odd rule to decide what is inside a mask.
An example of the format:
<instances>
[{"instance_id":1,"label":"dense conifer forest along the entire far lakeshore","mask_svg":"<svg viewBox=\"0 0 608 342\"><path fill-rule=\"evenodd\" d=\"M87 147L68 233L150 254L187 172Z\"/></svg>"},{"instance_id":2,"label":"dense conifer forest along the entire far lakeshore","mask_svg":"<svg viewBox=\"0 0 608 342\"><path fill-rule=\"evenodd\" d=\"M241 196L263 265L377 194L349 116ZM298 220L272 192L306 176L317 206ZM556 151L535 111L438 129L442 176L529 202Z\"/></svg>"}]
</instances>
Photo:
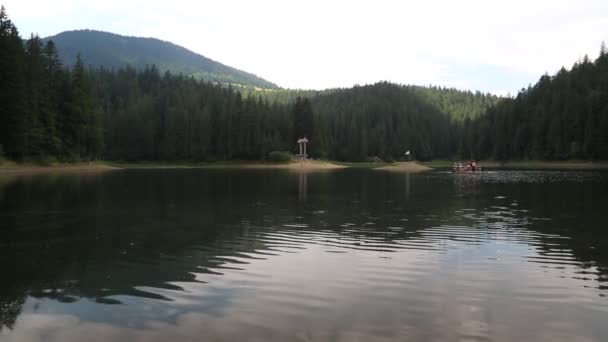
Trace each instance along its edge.
<instances>
[{"instance_id":1,"label":"dense conifer forest along the entire far lakeshore","mask_svg":"<svg viewBox=\"0 0 608 342\"><path fill-rule=\"evenodd\" d=\"M61 62L0 14L0 156L17 161L264 160L307 136L315 158L608 159L608 56L514 98L387 82L253 90Z\"/></svg>"}]
</instances>

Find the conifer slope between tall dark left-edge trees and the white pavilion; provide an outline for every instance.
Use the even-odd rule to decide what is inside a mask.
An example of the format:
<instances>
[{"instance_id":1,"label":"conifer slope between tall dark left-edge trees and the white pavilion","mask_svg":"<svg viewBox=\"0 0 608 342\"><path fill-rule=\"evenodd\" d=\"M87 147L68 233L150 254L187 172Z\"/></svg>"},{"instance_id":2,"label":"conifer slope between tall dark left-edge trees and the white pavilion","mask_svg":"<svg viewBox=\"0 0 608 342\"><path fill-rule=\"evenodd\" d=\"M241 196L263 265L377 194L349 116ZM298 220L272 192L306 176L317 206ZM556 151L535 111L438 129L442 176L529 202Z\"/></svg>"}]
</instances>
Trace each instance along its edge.
<instances>
[{"instance_id":1,"label":"conifer slope between tall dark left-edge trees and the white pavilion","mask_svg":"<svg viewBox=\"0 0 608 342\"><path fill-rule=\"evenodd\" d=\"M112 160L262 160L288 150L288 106L154 67L92 73Z\"/></svg>"}]
</instances>

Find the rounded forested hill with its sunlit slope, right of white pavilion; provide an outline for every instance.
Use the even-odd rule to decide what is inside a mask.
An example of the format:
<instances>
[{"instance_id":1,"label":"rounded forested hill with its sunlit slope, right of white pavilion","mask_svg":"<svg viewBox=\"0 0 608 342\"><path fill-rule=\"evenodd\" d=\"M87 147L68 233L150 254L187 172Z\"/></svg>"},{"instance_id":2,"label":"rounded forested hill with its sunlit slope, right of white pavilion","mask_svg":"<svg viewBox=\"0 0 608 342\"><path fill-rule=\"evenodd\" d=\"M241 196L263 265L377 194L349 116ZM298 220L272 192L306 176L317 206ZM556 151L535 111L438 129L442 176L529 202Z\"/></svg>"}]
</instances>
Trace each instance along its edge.
<instances>
[{"instance_id":1,"label":"rounded forested hill with its sunlit slope, right of white pavilion","mask_svg":"<svg viewBox=\"0 0 608 342\"><path fill-rule=\"evenodd\" d=\"M406 151L422 160L464 155L465 120L477 118L501 98L438 87L388 82L330 89L311 98L323 156L392 160Z\"/></svg>"}]
</instances>

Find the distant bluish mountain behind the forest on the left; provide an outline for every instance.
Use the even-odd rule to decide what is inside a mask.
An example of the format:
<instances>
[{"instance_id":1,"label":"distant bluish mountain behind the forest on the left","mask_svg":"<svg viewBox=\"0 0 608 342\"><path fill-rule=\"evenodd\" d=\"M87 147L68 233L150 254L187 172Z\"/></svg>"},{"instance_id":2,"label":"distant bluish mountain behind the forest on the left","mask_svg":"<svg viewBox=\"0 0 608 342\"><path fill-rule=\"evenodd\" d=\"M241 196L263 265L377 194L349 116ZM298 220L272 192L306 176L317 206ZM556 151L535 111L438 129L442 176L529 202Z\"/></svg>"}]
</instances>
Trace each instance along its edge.
<instances>
[{"instance_id":1,"label":"distant bluish mountain behind the forest on the left","mask_svg":"<svg viewBox=\"0 0 608 342\"><path fill-rule=\"evenodd\" d=\"M186 48L155 38L121 36L114 33L65 31L53 40L65 65L74 65L80 53L86 65L121 68L126 65L144 69L156 65L161 72L192 75L196 78L244 86L276 89L278 86L254 74L221 64Z\"/></svg>"}]
</instances>

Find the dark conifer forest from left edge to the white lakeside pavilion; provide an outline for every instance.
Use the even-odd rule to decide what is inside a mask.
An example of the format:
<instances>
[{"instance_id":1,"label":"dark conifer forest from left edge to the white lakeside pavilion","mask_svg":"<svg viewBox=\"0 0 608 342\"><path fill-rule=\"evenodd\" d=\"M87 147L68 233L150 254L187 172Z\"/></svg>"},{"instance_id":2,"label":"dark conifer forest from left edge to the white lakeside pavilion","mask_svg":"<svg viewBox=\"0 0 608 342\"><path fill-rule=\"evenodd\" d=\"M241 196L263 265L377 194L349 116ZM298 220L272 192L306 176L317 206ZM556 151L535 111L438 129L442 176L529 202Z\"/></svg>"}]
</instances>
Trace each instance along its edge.
<instances>
[{"instance_id":1,"label":"dark conifer forest from left edge to the white lakeside pavilion","mask_svg":"<svg viewBox=\"0 0 608 342\"><path fill-rule=\"evenodd\" d=\"M0 153L14 160L264 159L290 150L288 105L192 77L64 66L0 10Z\"/></svg>"}]
</instances>

